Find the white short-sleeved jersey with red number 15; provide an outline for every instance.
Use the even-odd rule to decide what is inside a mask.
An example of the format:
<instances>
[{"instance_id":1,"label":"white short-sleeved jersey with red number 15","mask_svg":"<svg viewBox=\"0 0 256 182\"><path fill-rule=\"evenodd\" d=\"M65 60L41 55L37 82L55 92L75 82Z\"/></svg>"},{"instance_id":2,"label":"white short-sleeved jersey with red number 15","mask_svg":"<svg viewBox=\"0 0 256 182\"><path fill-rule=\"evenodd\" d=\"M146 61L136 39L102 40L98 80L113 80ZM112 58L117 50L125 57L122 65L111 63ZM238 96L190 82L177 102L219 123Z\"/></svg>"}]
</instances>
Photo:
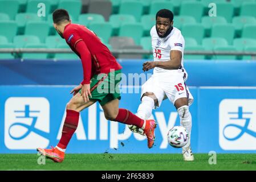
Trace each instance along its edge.
<instances>
[{"instance_id":1,"label":"white short-sleeved jersey with red number 15","mask_svg":"<svg viewBox=\"0 0 256 182\"><path fill-rule=\"evenodd\" d=\"M154 61L168 61L170 60L170 51L178 50L182 52L181 66L183 66L183 52L185 47L185 41L181 35L181 31L178 28L173 27L173 30L165 38L160 38L156 31L156 26L153 26L150 31L151 42L153 49ZM173 73L177 72L177 69L163 69L154 68L154 74L157 73Z\"/></svg>"}]
</instances>

